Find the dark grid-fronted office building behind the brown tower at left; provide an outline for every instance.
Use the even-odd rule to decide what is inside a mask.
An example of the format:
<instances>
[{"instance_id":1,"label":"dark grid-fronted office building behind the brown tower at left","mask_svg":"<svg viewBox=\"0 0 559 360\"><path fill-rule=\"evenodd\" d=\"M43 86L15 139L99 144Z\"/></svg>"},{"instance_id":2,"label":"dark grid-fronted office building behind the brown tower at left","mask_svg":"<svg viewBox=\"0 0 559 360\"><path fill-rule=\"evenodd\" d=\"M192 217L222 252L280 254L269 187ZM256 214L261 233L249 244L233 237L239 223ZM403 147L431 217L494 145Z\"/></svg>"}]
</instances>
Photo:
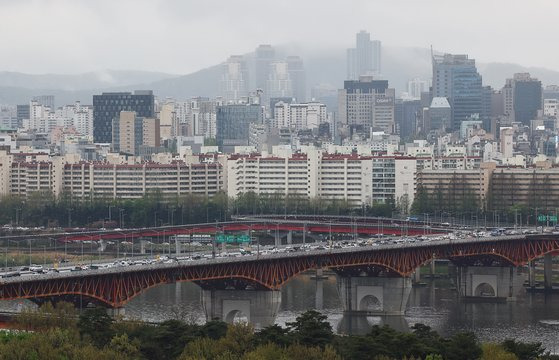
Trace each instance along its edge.
<instances>
[{"instance_id":1,"label":"dark grid-fronted office building behind the brown tower at left","mask_svg":"<svg viewBox=\"0 0 559 360\"><path fill-rule=\"evenodd\" d=\"M93 95L93 141L110 143L113 140L113 119L118 119L121 111L134 111L138 117L153 118L153 92L136 90L133 94L114 92Z\"/></svg>"}]
</instances>

